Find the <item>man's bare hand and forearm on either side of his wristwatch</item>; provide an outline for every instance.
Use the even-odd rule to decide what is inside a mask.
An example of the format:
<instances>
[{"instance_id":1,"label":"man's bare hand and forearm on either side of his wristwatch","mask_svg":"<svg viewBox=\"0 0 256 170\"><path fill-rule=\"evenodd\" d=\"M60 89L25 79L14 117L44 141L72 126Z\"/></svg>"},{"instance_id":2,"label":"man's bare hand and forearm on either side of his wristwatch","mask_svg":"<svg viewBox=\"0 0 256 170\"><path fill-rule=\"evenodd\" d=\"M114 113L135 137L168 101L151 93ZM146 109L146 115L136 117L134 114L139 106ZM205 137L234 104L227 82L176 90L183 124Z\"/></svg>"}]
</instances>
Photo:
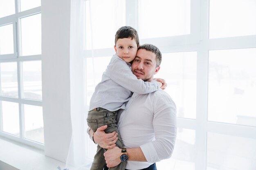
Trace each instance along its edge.
<instances>
[{"instance_id":1,"label":"man's bare hand and forearm on either side of his wristwatch","mask_svg":"<svg viewBox=\"0 0 256 170\"><path fill-rule=\"evenodd\" d=\"M128 160L129 161L141 161L141 162L146 162L146 158L141 150L141 148L127 148L127 155L128 155ZM120 155L121 155L121 149L118 148L117 146L112 149L108 149L105 153L105 160L107 163L107 167L111 168L114 166L117 166L119 163L121 163L120 160Z\"/></svg>"}]
</instances>

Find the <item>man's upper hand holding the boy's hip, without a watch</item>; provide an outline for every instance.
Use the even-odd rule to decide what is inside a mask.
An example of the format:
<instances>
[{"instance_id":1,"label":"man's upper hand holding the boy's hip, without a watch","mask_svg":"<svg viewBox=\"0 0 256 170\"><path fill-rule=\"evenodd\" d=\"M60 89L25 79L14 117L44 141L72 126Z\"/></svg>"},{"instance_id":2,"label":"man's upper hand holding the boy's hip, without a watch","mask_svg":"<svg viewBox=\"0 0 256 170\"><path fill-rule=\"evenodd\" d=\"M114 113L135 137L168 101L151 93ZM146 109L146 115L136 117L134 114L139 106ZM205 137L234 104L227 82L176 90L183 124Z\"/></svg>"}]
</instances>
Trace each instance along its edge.
<instances>
[{"instance_id":1,"label":"man's upper hand holding the boy's hip, without a watch","mask_svg":"<svg viewBox=\"0 0 256 170\"><path fill-rule=\"evenodd\" d=\"M104 130L107 127L108 126L105 125L97 128L97 131L94 132L93 139L101 148L111 149L116 146L115 143L117 142L117 132L114 131L112 133L105 133Z\"/></svg>"}]
</instances>

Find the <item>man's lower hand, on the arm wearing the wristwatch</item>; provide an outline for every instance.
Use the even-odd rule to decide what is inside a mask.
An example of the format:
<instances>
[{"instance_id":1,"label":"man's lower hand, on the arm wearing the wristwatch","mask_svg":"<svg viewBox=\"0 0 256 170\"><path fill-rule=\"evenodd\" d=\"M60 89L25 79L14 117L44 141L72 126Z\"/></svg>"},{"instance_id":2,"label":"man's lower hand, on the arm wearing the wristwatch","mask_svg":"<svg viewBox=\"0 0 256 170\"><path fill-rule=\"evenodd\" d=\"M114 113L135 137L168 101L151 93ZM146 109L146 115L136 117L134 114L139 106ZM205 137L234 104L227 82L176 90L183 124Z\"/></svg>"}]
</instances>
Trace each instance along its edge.
<instances>
[{"instance_id":1,"label":"man's lower hand, on the arm wearing the wristwatch","mask_svg":"<svg viewBox=\"0 0 256 170\"><path fill-rule=\"evenodd\" d=\"M121 163L120 160L120 155L121 155L121 149L118 148L117 146L115 148L112 149L108 149L105 153L104 153L104 157L107 163L107 167L111 168L114 166L119 165L119 163Z\"/></svg>"}]
</instances>

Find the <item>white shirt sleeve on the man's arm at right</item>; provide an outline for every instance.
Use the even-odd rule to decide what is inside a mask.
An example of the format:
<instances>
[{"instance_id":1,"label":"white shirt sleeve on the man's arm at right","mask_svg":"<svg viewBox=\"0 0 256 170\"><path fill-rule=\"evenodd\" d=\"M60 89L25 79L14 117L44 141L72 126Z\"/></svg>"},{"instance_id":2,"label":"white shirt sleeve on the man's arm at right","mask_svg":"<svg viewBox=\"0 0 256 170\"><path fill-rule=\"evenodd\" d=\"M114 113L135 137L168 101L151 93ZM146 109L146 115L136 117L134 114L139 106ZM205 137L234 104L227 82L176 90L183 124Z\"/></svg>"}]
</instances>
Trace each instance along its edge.
<instances>
[{"instance_id":1,"label":"white shirt sleeve on the man's arm at right","mask_svg":"<svg viewBox=\"0 0 256 170\"><path fill-rule=\"evenodd\" d=\"M149 163L170 158L177 136L176 106L172 99L160 98L154 102L153 107L155 141L140 146Z\"/></svg>"}]
</instances>

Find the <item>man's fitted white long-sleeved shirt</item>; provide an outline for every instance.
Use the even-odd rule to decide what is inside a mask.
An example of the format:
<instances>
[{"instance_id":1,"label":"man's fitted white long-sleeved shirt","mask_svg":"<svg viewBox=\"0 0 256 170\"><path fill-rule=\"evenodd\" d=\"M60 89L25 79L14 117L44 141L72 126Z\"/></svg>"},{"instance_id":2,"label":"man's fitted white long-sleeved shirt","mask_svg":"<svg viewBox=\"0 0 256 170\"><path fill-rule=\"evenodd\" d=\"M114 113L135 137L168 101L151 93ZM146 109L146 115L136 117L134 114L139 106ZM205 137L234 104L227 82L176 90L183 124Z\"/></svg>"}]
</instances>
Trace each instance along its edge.
<instances>
[{"instance_id":1,"label":"man's fitted white long-sleeved shirt","mask_svg":"<svg viewBox=\"0 0 256 170\"><path fill-rule=\"evenodd\" d=\"M128 161L126 169L147 168L171 157L177 135L176 106L166 92L134 93L120 113L117 126L125 147L140 147L147 160Z\"/></svg>"}]
</instances>

